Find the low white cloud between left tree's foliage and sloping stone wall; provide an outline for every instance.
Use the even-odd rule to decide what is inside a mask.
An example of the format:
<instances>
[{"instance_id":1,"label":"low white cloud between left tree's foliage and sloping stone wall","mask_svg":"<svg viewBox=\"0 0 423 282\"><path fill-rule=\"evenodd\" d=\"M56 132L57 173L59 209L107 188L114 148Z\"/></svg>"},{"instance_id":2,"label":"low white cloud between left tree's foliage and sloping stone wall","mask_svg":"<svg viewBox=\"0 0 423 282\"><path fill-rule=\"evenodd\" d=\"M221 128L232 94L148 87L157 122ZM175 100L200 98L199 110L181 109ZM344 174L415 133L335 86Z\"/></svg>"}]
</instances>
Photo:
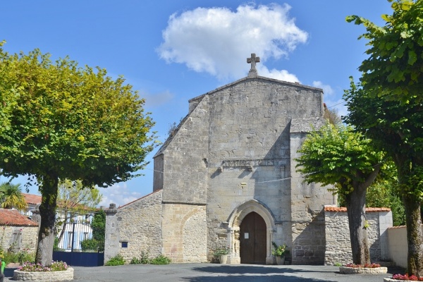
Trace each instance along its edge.
<instances>
[{"instance_id":1,"label":"low white cloud between left tree's foliage and sloping stone wall","mask_svg":"<svg viewBox=\"0 0 423 282\"><path fill-rule=\"evenodd\" d=\"M115 203L116 207L123 206L123 204L128 204L142 197L141 193L130 191L126 183L114 184L109 188L98 189L103 195L102 202L99 203L99 206L103 206L104 208L108 208L111 203Z\"/></svg>"}]
</instances>

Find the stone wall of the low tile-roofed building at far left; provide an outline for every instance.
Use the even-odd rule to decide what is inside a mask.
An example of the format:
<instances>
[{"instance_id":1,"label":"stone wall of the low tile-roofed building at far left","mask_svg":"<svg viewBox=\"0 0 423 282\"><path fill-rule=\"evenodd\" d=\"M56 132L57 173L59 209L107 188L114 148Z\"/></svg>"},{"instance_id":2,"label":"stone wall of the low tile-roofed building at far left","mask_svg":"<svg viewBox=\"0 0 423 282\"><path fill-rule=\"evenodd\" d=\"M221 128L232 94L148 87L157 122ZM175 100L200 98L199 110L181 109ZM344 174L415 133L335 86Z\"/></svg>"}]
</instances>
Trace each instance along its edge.
<instances>
[{"instance_id":1,"label":"stone wall of the low tile-roofed building at far left","mask_svg":"<svg viewBox=\"0 0 423 282\"><path fill-rule=\"evenodd\" d=\"M14 238L17 238L19 242L13 242ZM2 250L8 250L11 247L15 252L26 250L35 253L38 226L0 226L0 240Z\"/></svg>"}]
</instances>

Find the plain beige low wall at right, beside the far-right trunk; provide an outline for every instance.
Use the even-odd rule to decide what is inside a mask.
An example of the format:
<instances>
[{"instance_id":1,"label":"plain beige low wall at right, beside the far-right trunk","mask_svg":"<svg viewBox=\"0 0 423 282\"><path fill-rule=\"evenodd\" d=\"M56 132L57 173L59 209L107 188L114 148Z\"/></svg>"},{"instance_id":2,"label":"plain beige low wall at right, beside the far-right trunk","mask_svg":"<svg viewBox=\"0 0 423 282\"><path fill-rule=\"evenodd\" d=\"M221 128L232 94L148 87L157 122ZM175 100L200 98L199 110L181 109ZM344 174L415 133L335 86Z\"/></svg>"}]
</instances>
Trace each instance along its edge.
<instances>
[{"instance_id":1,"label":"plain beige low wall at right, beside the far-right trunk","mask_svg":"<svg viewBox=\"0 0 423 282\"><path fill-rule=\"evenodd\" d=\"M407 226L394 226L388 228L388 245L389 255L396 266L407 268Z\"/></svg>"}]
</instances>

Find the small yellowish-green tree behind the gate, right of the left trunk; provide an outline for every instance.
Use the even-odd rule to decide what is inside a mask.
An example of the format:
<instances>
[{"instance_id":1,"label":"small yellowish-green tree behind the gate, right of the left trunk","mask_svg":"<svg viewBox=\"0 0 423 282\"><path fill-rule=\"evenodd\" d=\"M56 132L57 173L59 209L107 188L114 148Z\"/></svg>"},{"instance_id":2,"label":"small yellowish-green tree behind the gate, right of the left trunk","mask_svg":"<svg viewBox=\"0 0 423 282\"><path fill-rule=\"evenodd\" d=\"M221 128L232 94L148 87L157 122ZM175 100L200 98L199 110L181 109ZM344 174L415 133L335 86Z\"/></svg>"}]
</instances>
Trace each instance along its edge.
<instances>
[{"instance_id":1,"label":"small yellowish-green tree behind the gate, right of the left trunk","mask_svg":"<svg viewBox=\"0 0 423 282\"><path fill-rule=\"evenodd\" d=\"M61 229L59 242L63 238L68 220L75 215L93 212L102 201L102 194L97 188L85 188L80 180L60 180L58 206L61 216L56 219L56 230Z\"/></svg>"}]
</instances>

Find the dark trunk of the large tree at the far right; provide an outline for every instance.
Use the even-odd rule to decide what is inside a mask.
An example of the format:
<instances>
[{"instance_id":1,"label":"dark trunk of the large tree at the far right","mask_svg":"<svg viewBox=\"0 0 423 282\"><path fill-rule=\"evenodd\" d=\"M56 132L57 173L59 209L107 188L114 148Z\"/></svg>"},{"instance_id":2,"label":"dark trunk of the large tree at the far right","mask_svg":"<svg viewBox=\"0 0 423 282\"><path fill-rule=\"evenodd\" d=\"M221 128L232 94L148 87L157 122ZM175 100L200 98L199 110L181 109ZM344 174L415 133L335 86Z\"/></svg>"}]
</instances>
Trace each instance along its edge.
<instances>
[{"instance_id":1,"label":"dark trunk of the large tree at the far right","mask_svg":"<svg viewBox=\"0 0 423 282\"><path fill-rule=\"evenodd\" d=\"M403 197L405 223L407 224L408 274L423 276L423 233L420 216L420 202L413 195Z\"/></svg>"}]
</instances>

